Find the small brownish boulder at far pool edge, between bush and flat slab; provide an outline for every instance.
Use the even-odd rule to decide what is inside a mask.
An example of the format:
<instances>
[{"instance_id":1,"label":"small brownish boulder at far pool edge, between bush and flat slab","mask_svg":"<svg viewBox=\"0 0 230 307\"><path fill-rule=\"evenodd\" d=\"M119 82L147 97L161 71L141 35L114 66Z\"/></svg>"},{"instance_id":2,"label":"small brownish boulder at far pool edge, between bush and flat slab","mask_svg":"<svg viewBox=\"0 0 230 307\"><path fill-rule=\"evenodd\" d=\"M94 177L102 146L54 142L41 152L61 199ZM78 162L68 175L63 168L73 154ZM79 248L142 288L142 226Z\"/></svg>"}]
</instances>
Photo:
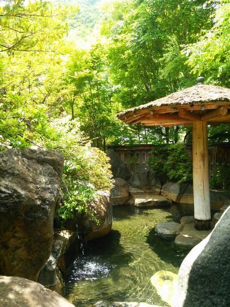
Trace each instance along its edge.
<instances>
[{"instance_id":1,"label":"small brownish boulder at far pool edge, between bush and flat slab","mask_svg":"<svg viewBox=\"0 0 230 307\"><path fill-rule=\"evenodd\" d=\"M110 191L112 205L124 205L129 200L129 185L122 178L115 178Z\"/></svg>"}]
</instances>

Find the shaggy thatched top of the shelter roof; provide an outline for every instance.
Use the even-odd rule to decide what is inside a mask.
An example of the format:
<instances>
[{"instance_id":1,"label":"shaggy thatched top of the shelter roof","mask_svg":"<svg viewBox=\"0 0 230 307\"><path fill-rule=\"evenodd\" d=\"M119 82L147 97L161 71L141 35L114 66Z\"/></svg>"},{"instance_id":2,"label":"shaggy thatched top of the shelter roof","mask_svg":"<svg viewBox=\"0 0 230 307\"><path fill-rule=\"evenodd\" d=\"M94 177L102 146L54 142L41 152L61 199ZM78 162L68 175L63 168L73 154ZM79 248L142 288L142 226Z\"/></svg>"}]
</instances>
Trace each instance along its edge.
<instances>
[{"instance_id":1,"label":"shaggy thatched top of the shelter roof","mask_svg":"<svg viewBox=\"0 0 230 307\"><path fill-rule=\"evenodd\" d=\"M221 86L199 84L189 87L188 89L175 92L166 97L159 98L155 101L126 109L120 112L117 116L119 119L124 120L124 117L135 113L138 114L140 111L144 110L151 111L164 106L193 106L195 104L206 104L211 102L230 102L230 89Z\"/></svg>"}]
</instances>

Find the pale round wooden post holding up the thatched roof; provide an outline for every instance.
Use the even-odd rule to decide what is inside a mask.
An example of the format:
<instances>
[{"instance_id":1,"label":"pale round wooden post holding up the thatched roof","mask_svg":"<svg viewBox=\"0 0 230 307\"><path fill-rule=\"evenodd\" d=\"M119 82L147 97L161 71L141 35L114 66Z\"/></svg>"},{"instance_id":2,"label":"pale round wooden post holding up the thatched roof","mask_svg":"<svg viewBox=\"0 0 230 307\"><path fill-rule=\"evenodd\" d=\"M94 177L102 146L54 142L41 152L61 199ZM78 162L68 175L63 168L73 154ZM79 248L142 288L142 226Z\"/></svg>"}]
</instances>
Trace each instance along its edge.
<instances>
[{"instance_id":1,"label":"pale round wooden post holding up the thatched roof","mask_svg":"<svg viewBox=\"0 0 230 307\"><path fill-rule=\"evenodd\" d=\"M193 195L195 227L198 230L209 230L211 228L209 147L205 121L193 123Z\"/></svg>"}]
</instances>

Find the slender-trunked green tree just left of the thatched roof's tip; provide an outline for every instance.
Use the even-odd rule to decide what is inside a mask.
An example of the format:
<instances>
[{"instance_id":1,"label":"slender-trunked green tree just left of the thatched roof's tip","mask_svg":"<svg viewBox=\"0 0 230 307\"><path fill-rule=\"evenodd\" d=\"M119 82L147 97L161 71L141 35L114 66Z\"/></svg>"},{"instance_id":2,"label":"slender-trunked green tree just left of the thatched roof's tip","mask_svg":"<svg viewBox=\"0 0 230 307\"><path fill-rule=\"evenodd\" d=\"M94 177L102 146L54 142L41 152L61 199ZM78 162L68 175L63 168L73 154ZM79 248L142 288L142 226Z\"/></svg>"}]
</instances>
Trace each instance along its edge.
<instances>
[{"instance_id":1,"label":"slender-trunked green tree just left of the thatched roof's tip","mask_svg":"<svg viewBox=\"0 0 230 307\"><path fill-rule=\"evenodd\" d=\"M117 118L120 104L116 102L117 86L108 76L104 49L93 46L89 51L77 50L68 63L64 86L70 89L64 106L72 119L80 119L80 128L93 145L106 150L106 144L129 138L132 129Z\"/></svg>"}]
</instances>

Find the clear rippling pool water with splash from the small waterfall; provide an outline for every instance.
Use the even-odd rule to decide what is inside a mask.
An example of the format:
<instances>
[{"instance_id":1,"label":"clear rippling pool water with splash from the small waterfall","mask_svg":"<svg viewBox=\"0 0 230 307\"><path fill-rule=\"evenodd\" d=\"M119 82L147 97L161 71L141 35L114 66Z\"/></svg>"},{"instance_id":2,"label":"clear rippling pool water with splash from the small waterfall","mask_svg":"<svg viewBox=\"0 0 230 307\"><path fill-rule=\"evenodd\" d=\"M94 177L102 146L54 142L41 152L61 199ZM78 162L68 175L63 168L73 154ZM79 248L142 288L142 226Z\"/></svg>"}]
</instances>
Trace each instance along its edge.
<instances>
[{"instance_id":1,"label":"clear rippling pool water with splash from the small waterfall","mask_svg":"<svg viewBox=\"0 0 230 307\"><path fill-rule=\"evenodd\" d=\"M185 252L159 238L154 227L179 222L176 206L168 209L113 207L112 231L87 243L65 275L65 297L76 306L99 300L137 301L167 306L150 278L159 270L178 273Z\"/></svg>"}]
</instances>

